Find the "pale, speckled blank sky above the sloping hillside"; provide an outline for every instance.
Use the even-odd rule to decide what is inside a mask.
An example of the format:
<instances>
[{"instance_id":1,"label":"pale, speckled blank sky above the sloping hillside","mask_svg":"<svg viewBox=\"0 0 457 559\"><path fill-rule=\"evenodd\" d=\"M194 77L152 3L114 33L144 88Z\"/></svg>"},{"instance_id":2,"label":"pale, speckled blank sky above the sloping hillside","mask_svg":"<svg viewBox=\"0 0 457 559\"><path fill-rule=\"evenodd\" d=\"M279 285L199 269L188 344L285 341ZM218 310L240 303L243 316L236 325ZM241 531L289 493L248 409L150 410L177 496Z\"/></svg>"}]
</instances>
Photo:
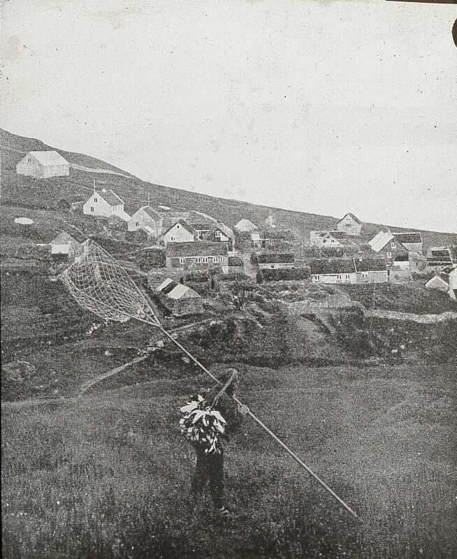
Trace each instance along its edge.
<instances>
[{"instance_id":1,"label":"pale, speckled blank sky above the sloping hillside","mask_svg":"<svg viewBox=\"0 0 457 559\"><path fill-rule=\"evenodd\" d=\"M156 184L457 231L456 6L0 3L3 129Z\"/></svg>"}]
</instances>

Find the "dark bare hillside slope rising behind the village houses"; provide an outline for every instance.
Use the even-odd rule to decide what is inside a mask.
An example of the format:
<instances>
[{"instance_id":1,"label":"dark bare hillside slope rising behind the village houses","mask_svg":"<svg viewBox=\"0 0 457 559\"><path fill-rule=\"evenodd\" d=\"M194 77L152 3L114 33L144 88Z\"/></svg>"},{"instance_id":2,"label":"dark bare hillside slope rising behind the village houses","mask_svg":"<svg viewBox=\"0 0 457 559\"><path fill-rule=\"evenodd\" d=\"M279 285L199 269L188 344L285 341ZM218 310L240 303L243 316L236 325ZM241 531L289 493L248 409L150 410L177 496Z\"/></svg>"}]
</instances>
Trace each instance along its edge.
<instances>
[{"instance_id":1,"label":"dark bare hillside slope rising behind the village houses","mask_svg":"<svg viewBox=\"0 0 457 559\"><path fill-rule=\"evenodd\" d=\"M84 199L92 190L93 180L103 187L114 189L126 202L126 211L133 212L147 201L150 194L151 205L170 205L176 210L197 210L212 215L216 219L223 220L226 224L233 226L239 219L245 217L256 224L263 224L268 215L273 215L282 228L289 228L298 235L298 238L307 239L309 231L313 229L334 228L340 219L339 216L331 217L317 215L307 212L295 212L270 208L266 205L229 200L226 198L215 198L198 192L166 187L160 184L152 184L133 177L129 173L106 164L99 159L84 154L66 152L57 147L50 147L33 138L15 136L8 131L0 129L1 147L1 192L2 202L23 206L25 208L55 208L59 198ZM15 165L29 150L51 149L59 152L71 164L85 166L98 170L109 170L111 173L122 173L126 176L118 176L104 173L89 173L76 168L71 169L70 177L59 177L43 182L20 177L15 173ZM350 208L342 208L342 212ZM363 226L363 237L371 238L380 228L388 227L388 224L365 223ZM395 228L401 231L401 228ZM430 245L447 245L451 242L451 233L437 233L434 231L421 231L423 233L424 247Z\"/></svg>"}]
</instances>

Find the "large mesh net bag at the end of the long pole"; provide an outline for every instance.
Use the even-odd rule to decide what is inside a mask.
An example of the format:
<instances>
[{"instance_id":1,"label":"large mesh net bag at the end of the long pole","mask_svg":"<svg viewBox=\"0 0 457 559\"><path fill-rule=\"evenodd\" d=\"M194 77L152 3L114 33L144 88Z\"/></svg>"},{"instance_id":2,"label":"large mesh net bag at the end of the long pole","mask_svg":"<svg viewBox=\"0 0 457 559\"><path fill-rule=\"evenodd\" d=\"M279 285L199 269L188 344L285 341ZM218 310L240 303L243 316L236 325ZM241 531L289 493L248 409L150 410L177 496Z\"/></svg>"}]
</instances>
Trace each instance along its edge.
<instances>
[{"instance_id":1,"label":"large mesh net bag at the end of the long pole","mask_svg":"<svg viewBox=\"0 0 457 559\"><path fill-rule=\"evenodd\" d=\"M126 322L133 318L159 324L131 277L96 242L85 242L82 252L59 279L81 307L103 320Z\"/></svg>"}]
</instances>

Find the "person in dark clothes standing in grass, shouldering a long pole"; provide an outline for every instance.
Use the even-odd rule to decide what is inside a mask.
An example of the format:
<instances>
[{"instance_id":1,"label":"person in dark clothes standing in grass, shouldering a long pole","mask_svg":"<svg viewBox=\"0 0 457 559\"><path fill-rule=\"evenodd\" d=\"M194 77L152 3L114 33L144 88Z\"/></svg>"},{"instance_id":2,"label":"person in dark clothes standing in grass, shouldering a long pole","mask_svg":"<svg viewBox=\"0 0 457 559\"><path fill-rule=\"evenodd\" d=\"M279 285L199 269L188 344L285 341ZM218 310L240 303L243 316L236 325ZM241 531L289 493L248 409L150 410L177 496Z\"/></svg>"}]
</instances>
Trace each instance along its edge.
<instances>
[{"instance_id":1,"label":"person in dark clothes standing in grass, shouldering a long pole","mask_svg":"<svg viewBox=\"0 0 457 559\"><path fill-rule=\"evenodd\" d=\"M224 503L224 447L229 442L231 435L240 429L242 424L240 416L245 417L249 413L247 406L238 406L236 402L227 398L227 396L232 397L235 395L235 391L238 389L240 374L235 369L230 368L219 378L222 386L224 386L231 377L233 379L226 389L226 395L220 395L217 400L215 398L217 398L221 386L217 385L211 390L201 391L201 395L210 405L212 402L215 402L213 409L217 410L225 419L226 428L224 435L219 437L219 452L205 453L205 447L194 444L196 465L194 477L191 481L191 497L194 507L209 481L211 498L216 514L222 516L222 518L229 518L230 516L229 510L226 509Z\"/></svg>"}]
</instances>

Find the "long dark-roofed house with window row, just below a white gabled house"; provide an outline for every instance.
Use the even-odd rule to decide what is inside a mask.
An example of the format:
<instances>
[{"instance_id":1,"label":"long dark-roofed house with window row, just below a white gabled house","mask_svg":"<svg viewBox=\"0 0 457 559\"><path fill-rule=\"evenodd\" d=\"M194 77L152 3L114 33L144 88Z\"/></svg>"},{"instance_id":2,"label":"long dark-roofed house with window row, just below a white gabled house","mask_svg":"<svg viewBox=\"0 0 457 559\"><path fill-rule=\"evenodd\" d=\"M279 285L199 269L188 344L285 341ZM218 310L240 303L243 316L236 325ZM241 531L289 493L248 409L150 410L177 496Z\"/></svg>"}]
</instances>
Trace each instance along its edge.
<instances>
[{"instance_id":1,"label":"long dark-roofed house with window row, just below a white gabled house","mask_svg":"<svg viewBox=\"0 0 457 559\"><path fill-rule=\"evenodd\" d=\"M205 270L220 266L224 274L229 273L229 256L223 242L168 242L165 259L167 268Z\"/></svg>"}]
</instances>

